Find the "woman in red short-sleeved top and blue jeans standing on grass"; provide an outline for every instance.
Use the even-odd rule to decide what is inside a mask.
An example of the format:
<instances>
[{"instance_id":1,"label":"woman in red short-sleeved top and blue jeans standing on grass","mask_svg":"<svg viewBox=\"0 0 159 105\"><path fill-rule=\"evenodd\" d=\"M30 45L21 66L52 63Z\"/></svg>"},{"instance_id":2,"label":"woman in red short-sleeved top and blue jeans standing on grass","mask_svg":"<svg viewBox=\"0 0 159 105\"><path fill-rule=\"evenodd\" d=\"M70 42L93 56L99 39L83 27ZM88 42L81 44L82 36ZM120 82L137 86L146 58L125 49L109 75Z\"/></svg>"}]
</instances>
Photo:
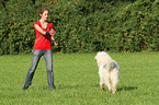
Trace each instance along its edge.
<instances>
[{"instance_id":1,"label":"woman in red short-sleeved top and blue jeans standing on grass","mask_svg":"<svg viewBox=\"0 0 159 105\"><path fill-rule=\"evenodd\" d=\"M47 8L42 8L39 10L41 20L34 23L36 39L33 47L32 66L27 72L23 90L27 90L31 85L34 72L42 56L44 56L46 61L48 88L50 90L55 89L50 39L56 46L58 43L56 43L54 39L55 31L53 30L53 23L47 22L48 12L49 10Z\"/></svg>"}]
</instances>

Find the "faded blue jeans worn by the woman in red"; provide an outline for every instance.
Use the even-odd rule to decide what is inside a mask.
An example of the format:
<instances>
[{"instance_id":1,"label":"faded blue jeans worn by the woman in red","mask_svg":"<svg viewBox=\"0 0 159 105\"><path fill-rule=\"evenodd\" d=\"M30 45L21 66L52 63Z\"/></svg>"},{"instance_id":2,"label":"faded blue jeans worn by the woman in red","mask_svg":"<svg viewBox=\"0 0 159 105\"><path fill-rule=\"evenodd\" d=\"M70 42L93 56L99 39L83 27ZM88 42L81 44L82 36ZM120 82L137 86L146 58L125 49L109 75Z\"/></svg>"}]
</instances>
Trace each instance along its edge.
<instances>
[{"instance_id":1,"label":"faded blue jeans worn by the woman in red","mask_svg":"<svg viewBox=\"0 0 159 105\"><path fill-rule=\"evenodd\" d=\"M55 89L52 50L36 50L36 49L33 49L32 66L29 70L29 72L27 72L24 85L31 85L32 79L33 79L35 70L36 70L36 67L37 67L38 61L39 61L42 56L44 56L45 61L46 61L48 88L49 89Z\"/></svg>"}]
</instances>

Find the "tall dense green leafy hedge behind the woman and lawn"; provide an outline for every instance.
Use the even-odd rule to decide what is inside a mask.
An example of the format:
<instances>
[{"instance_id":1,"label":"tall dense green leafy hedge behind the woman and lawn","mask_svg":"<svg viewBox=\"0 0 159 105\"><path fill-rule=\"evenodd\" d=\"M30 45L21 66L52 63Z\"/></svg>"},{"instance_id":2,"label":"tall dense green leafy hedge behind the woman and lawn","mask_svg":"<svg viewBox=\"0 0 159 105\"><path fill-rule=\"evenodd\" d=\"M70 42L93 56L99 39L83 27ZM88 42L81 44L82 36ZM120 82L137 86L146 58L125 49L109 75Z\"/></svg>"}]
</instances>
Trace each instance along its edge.
<instances>
[{"instance_id":1,"label":"tall dense green leafy hedge behind the woman and lawn","mask_svg":"<svg viewBox=\"0 0 159 105\"><path fill-rule=\"evenodd\" d=\"M158 51L159 0L0 0L0 55L33 49L38 10L50 10L60 52Z\"/></svg>"}]
</instances>

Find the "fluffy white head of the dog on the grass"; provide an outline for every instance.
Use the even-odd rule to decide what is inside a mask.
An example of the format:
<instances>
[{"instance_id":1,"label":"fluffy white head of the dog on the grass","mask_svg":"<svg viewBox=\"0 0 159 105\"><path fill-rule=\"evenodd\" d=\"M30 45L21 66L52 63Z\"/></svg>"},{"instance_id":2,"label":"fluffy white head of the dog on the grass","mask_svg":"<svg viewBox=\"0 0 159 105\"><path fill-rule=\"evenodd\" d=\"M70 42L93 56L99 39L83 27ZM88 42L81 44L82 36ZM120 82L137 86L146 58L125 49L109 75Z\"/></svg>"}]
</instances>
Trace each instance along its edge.
<instances>
[{"instance_id":1,"label":"fluffy white head of the dog on the grass","mask_svg":"<svg viewBox=\"0 0 159 105\"><path fill-rule=\"evenodd\" d=\"M112 61L112 58L105 51L99 51L94 59L96 60L98 66L109 65Z\"/></svg>"}]
</instances>

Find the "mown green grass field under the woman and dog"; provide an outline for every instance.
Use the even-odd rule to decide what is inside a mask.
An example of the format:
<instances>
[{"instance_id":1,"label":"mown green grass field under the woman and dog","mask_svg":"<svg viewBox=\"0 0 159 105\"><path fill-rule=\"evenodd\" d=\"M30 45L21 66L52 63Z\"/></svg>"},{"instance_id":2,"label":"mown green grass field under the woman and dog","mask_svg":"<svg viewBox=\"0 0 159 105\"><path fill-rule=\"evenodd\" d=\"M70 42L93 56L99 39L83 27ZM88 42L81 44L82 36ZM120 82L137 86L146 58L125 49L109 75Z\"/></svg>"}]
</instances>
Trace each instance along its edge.
<instances>
[{"instance_id":1,"label":"mown green grass field under the woman and dog","mask_svg":"<svg viewBox=\"0 0 159 105\"><path fill-rule=\"evenodd\" d=\"M159 105L159 54L110 55L121 67L114 95L100 90L95 54L54 54L56 90L42 58L27 91L32 55L0 56L0 105Z\"/></svg>"}]
</instances>

